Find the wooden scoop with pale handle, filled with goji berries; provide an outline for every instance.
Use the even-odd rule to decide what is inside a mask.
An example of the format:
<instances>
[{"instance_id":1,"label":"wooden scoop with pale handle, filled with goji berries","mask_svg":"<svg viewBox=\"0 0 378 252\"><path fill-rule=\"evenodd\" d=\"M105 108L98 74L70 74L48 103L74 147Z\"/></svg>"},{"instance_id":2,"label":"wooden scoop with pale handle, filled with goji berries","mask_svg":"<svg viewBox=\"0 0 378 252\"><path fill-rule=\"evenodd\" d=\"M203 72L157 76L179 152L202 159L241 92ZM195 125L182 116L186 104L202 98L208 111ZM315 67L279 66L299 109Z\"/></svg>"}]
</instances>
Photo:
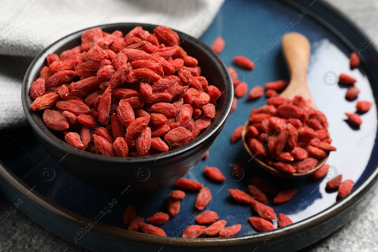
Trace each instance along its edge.
<instances>
[{"instance_id":1,"label":"wooden scoop with pale handle, filled with goji berries","mask_svg":"<svg viewBox=\"0 0 378 252\"><path fill-rule=\"evenodd\" d=\"M285 58L289 74L290 74L290 83L282 91L280 96L293 99L294 96L302 96L305 100L311 99L310 90L307 87L307 67L308 61L310 60L311 46L307 37L303 34L297 32L288 32L282 37L282 54ZM311 107L314 110L317 110L317 107L314 103L314 100L311 99ZM250 123L247 120L244 124L242 131L243 145L248 154L253 157L252 160L259 165L262 169L270 172L273 175L283 177L283 178L299 178L302 176L309 175L316 170L318 170L322 165L327 161L328 155L320 159L318 164L314 169L304 172L304 173L284 173L278 171L276 168L266 164L259 157L255 156L251 150L249 150L248 143L245 138L245 133L249 127Z\"/></svg>"}]
</instances>

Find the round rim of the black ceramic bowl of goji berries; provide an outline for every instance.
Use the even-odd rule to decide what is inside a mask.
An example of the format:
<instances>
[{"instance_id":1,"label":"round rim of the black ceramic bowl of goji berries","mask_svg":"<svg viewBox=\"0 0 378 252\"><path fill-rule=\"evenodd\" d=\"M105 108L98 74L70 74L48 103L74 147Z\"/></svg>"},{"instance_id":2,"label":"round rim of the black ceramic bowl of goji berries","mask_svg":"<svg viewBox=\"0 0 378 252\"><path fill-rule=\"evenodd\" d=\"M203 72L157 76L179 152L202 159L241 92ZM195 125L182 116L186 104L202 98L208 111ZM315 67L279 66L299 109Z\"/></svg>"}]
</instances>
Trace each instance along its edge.
<instances>
[{"instance_id":1,"label":"round rim of the black ceramic bowl of goji berries","mask_svg":"<svg viewBox=\"0 0 378 252\"><path fill-rule=\"evenodd\" d=\"M143 28L155 28L159 25L154 24L147 24L147 23L131 23L131 22L123 22L123 23L112 23L105 25L104 29L112 29L113 27L122 26L122 25L130 25L130 26L142 26ZM210 46L204 44L199 39L196 39L195 37L192 37L190 35L184 34L184 32L177 31L175 29L172 29L173 31L177 32L179 37L186 36L185 40L191 40L193 43L198 44L199 46L202 46L204 49L206 49L209 52L210 57L214 57L219 63L215 61L215 66L220 66L220 71L222 71L225 74L225 107L223 111L220 111L219 117L216 122L212 121L211 124L208 126L208 128L201 133L197 138L195 138L193 141L184 144L183 146L180 146L178 148L175 148L174 150L169 150L168 152L158 153L154 155L148 155L148 156L141 156L141 157L110 157L110 156L103 156L98 155L96 153L90 153L86 152L84 150L77 149L66 142L62 141L60 138L58 138L54 133L50 130L50 128L46 127L46 125L42 121L42 116L39 116L37 114L31 114L31 110L29 108L29 105L27 104L27 100L31 99L30 96L26 98L29 94L29 89L31 83L33 83L33 79L31 79L31 74L36 71L37 68L40 67L41 61L45 60L45 56L48 53L52 53L54 49L59 48L65 43L72 42L74 39L77 39L77 36L81 36L81 34L88 29L96 28L99 26L92 26L85 29L82 29L80 31L73 32L71 34L68 34L65 37L60 38L59 40L55 41L51 45L47 46L45 49L43 49L31 62L31 64L28 67L28 70L25 73L23 82L22 82L22 88L21 88L21 99L22 99L22 107L25 111L26 118L33 128L35 132L37 132L45 141L47 141L49 144L53 145L56 148L59 148L60 150L64 152L68 152L70 154L81 156L85 159L90 159L92 161L99 161L99 162L106 162L106 163L112 163L112 164L122 164L124 162L127 162L128 164L141 164L141 163L147 163L147 162L154 162L157 159L160 161L173 158L175 156L181 155L182 153L189 152L191 149L196 148L198 145L201 144L201 142L206 143L206 139L217 133L218 130L221 130L223 125L226 122L226 119L231 111L232 107L232 100L234 97L234 88L232 84L231 75L228 71L228 68L226 64L223 62L223 60L220 58L220 56L215 53ZM29 85L27 85L29 84ZM222 94L221 94L222 95ZM36 116L39 116L40 121L36 120ZM208 143L206 143L208 144ZM208 144L209 145L209 144Z\"/></svg>"}]
</instances>

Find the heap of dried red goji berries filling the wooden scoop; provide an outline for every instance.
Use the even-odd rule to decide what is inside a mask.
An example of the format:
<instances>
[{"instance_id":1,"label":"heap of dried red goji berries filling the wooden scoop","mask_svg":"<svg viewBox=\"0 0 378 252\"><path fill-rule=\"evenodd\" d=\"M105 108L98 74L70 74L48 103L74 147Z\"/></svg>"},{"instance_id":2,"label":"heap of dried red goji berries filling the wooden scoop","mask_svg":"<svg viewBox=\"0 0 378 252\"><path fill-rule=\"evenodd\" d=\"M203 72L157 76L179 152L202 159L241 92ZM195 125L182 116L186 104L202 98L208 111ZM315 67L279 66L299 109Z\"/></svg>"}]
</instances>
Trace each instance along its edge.
<instances>
[{"instance_id":1,"label":"heap of dried red goji berries filling the wooden scoop","mask_svg":"<svg viewBox=\"0 0 378 252\"><path fill-rule=\"evenodd\" d=\"M266 103L251 111L251 125L245 134L253 155L266 164L280 172L304 173L313 169L318 159L336 150L330 144L327 118L310 108L310 100L274 96ZM242 129L236 128L231 142L240 138Z\"/></svg>"}]
</instances>

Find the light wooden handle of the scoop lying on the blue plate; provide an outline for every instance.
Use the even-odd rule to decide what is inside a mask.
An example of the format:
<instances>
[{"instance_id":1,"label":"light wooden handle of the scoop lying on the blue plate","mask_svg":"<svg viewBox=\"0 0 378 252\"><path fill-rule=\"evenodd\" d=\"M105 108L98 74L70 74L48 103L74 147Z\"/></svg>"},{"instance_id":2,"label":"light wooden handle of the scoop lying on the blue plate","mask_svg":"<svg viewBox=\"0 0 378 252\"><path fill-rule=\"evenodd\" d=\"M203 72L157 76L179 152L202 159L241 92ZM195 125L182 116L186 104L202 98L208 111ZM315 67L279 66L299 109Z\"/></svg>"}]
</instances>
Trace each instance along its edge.
<instances>
[{"instance_id":1,"label":"light wooden handle of the scoop lying on the blue plate","mask_svg":"<svg viewBox=\"0 0 378 252\"><path fill-rule=\"evenodd\" d=\"M282 54L290 74L290 83L281 96L293 99L299 95L310 99L307 87L307 67L310 60L311 45L307 37L298 32L288 32L282 37ZM315 104L311 101L313 107Z\"/></svg>"}]
</instances>

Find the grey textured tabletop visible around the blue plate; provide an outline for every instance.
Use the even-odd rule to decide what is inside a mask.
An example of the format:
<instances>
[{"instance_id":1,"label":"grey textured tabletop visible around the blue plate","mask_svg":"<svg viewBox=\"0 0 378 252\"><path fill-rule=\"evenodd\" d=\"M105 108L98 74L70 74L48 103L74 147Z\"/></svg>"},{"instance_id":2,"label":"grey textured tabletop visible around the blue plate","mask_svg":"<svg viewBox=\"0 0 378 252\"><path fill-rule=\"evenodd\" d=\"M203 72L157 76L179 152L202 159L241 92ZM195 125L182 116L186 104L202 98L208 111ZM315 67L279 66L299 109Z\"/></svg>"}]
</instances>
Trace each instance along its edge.
<instances>
[{"instance_id":1,"label":"grey textured tabletop visible around the blue plate","mask_svg":"<svg viewBox=\"0 0 378 252\"><path fill-rule=\"evenodd\" d=\"M325 0L326 2L346 14L367 35L377 33L378 21L375 17L378 13L378 1L376 0ZM378 43L374 41L378 46ZM353 220L345 224L332 235L324 238L316 244L302 249L301 252L353 252L353 251L378 251L376 237L378 236L378 195L375 193L378 186L370 191L371 200L364 205L363 211ZM6 212L11 203L0 193L0 212ZM22 212L12 214L0 225L2 239L0 252L2 251L89 251L76 246L54 235L34 221L30 220Z\"/></svg>"}]
</instances>

